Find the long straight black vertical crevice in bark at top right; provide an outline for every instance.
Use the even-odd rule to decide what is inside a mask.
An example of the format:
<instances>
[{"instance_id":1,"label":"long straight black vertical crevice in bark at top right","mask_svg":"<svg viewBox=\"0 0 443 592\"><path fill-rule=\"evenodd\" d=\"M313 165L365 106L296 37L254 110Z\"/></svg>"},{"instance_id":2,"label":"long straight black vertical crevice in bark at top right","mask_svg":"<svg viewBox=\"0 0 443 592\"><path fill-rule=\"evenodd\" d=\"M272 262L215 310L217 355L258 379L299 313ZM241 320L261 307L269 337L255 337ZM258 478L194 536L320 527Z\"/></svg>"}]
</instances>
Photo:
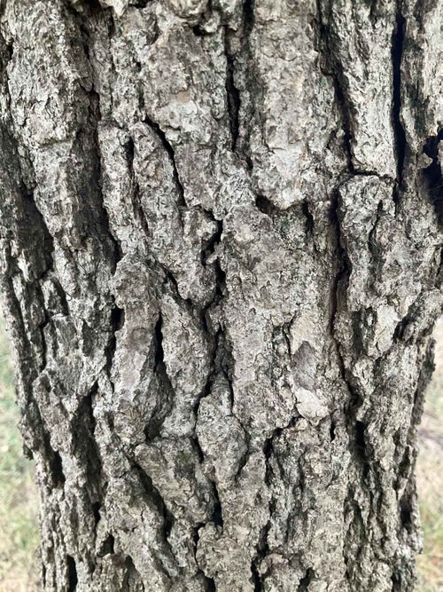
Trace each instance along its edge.
<instances>
[{"instance_id":1,"label":"long straight black vertical crevice in bark at top right","mask_svg":"<svg viewBox=\"0 0 443 592\"><path fill-rule=\"evenodd\" d=\"M400 199L407 146L405 130L401 123L401 60L403 57L405 28L406 20L399 12L396 15L395 29L392 35L392 125L397 157L397 190L394 192L394 201Z\"/></svg>"}]
</instances>

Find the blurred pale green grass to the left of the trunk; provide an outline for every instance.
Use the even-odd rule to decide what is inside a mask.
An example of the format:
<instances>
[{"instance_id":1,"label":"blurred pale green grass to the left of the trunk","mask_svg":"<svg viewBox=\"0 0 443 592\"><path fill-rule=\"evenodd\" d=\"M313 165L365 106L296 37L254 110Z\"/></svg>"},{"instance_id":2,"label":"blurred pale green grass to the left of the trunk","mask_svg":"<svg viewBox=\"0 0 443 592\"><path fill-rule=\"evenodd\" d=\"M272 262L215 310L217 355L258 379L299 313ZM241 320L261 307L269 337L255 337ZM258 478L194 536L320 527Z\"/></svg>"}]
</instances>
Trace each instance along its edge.
<instances>
[{"instance_id":1,"label":"blurred pale green grass to the left of the trunk","mask_svg":"<svg viewBox=\"0 0 443 592\"><path fill-rule=\"evenodd\" d=\"M33 463L22 453L12 368L0 320L0 591L35 590L38 496Z\"/></svg>"}]
</instances>

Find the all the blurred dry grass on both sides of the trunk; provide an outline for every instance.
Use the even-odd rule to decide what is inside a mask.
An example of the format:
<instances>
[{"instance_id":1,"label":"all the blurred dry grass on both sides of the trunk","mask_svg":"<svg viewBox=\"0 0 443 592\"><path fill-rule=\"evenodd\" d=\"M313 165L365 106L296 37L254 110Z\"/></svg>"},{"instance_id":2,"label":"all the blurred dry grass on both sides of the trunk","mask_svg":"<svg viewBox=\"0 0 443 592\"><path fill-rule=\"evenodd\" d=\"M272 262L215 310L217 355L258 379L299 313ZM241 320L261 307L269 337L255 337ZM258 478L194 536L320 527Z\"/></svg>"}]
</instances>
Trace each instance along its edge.
<instances>
[{"instance_id":1,"label":"all the blurred dry grass on both sides of the trunk","mask_svg":"<svg viewBox=\"0 0 443 592\"><path fill-rule=\"evenodd\" d=\"M419 430L417 481L424 553L418 558L416 592L443 592L443 321L436 339L437 369ZM32 462L21 451L17 422L8 345L0 319L0 592L35 592L38 497Z\"/></svg>"}]
</instances>

